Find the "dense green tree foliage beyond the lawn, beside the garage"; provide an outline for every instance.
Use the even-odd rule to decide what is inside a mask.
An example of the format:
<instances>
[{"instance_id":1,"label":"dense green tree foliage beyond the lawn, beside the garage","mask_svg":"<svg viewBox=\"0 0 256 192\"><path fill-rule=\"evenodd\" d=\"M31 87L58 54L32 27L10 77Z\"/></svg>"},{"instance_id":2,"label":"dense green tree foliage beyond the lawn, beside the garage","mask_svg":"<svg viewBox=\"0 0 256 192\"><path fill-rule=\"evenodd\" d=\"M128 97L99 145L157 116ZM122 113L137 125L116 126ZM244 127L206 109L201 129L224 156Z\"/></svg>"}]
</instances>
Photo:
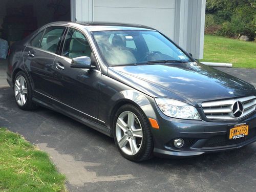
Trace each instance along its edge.
<instances>
[{"instance_id":1,"label":"dense green tree foliage beyond the lawn, beside the garage","mask_svg":"<svg viewBox=\"0 0 256 192\"><path fill-rule=\"evenodd\" d=\"M206 14L222 25L220 35L247 35L251 40L256 36L256 0L206 0Z\"/></svg>"}]
</instances>

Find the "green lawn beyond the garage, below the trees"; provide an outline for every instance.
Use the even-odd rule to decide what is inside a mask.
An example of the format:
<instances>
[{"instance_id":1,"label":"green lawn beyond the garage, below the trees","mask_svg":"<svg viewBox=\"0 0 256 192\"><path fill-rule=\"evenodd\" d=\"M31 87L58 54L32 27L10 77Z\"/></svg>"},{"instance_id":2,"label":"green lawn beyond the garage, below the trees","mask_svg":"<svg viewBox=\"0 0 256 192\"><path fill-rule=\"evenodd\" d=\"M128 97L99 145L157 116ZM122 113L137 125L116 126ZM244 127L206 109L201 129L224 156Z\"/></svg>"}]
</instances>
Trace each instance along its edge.
<instances>
[{"instance_id":1,"label":"green lawn beyond the garage, below the trees","mask_svg":"<svg viewBox=\"0 0 256 192\"><path fill-rule=\"evenodd\" d=\"M204 58L200 61L228 62L236 68L256 68L256 43L205 35Z\"/></svg>"}]
</instances>

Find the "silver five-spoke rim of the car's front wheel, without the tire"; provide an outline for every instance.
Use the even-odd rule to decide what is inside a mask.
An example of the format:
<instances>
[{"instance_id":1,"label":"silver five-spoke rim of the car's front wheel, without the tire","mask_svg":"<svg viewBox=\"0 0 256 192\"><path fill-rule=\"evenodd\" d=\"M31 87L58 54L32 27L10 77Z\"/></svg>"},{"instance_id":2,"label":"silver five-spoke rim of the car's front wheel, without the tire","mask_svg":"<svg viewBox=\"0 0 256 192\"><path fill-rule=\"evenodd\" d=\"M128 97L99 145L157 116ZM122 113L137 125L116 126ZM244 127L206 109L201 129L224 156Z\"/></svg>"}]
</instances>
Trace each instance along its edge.
<instances>
[{"instance_id":1,"label":"silver five-spoke rim of the car's front wheel, without the tire","mask_svg":"<svg viewBox=\"0 0 256 192\"><path fill-rule=\"evenodd\" d=\"M139 152L143 133L141 123L134 113L124 111L119 115L116 122L116 139L125 154L135 155Z\"/></svg>"}]
</instances>

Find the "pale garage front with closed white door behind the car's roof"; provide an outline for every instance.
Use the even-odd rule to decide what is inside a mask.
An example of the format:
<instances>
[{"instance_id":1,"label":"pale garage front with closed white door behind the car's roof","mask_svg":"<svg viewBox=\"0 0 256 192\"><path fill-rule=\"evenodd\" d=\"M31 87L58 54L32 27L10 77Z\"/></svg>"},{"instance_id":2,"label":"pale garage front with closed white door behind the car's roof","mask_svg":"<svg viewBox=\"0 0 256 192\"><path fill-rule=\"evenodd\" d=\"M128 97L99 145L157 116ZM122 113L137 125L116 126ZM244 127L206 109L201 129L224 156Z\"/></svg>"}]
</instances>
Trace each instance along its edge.
<instances>
[{"instance_id":1,"label":"pale garage front with closed white door behind the car's roof","mask_svg":"<svg viewBox=\"0 0 256 192\"><path fill-rule=\"evenodd\" d=\"M153 27L203 58L205 0L71 0L71 20Z\"/></svg>"}]
</instances>

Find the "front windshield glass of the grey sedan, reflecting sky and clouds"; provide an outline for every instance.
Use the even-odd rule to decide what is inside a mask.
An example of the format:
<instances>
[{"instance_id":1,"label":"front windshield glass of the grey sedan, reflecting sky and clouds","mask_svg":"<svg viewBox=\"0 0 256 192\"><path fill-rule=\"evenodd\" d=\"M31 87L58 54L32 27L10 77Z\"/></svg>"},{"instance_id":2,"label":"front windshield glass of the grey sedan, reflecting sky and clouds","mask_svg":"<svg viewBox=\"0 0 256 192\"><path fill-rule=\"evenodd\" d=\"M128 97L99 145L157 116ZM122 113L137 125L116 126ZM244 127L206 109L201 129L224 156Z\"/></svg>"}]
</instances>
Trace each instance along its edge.
<instances>
[{"instance_id":1,"label":"front windshield glass of the grey sedan, reflecting sky and clouds","mask_svg":"<svg viewBox=\"0 0 256 192\"><path fill-rule=\"evenodd\" d=\"M93 36L110 66L191 60L157 31L96 31Z\"/></svg>"}]
</instances>

